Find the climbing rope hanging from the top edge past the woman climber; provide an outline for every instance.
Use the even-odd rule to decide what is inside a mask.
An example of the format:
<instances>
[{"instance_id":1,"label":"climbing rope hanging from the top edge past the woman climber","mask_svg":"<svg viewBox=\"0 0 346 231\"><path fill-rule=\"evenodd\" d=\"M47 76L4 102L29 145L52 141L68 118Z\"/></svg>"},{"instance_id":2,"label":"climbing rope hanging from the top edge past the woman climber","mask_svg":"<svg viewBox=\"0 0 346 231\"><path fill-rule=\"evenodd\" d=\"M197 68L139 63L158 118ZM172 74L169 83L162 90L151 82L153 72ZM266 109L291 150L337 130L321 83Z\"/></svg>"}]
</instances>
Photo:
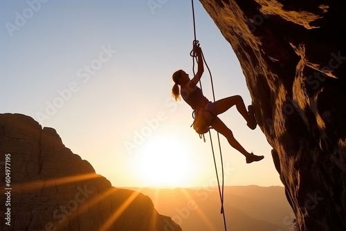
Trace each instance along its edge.
<instances>
[{"instance_id":1,"label":"climbing rope hanging from the top edge past the woman climber","mask_svg":"<svg viewBox=\"0 0 346 231\"><path fill-rule=\"evenodd\" d=\"M196 55L194 54L194 47L197 46L199 44L199 41L197 40L197 36L196 36L196 21L195 21L195 17L194 17L194 1L191 0L191 4L192 4L192 18L193 18L193 28L194 28L194 41L192 42L192 50L190 52L190 56L192 56L192 71L194 73L194 62L198 62L197 61L197 57ZM209 75L210 75L210 82L211 82L211 86L212 86L212 98L215 102L215 91L214 91L214 84L213 84L213 81L212 81L212 73L210 71L210 68L206 62L206 59L203 55L203 52L201 51L201 55L202 55L202 62L204 62L206 64L206 67L208 69L208 72L209 72ZM196 75L194 73L194 75ZM199 80L199 86L201 88L201 91L203 92L203 89L202 89L202 84L201 84L201 80ZM206 138L204 138L204 134L202 135L203 136L203 140L204 142L206 142ZM225 216L225 211L224 211L224 161L223 161L223 158L222 158L222 151L221 151L221 143L220 143L220 136L219 136L219 132L217 132L217 141L219 143L219 152L220 152L220 158L221 158L221 174L222 174L222 186L220 186L220 181L219 181L219 171L217 169L217 161L215 159L215 151L214 151L214 145L212 143L212 135L211 135L211 132L209 130L209 137L210 137L210 145L211 145L211 148L212 148L212 157L214 159L214 165L215 165L215 172L216 172L216 176L217 176L217 185L219 187L219 196L220 196L220 201L221 201L221 214L223 215L224 217L224 228L225 228L225 231L227 231L227 225L226 225L226 216Z\"/></svg>"}]
</instances>

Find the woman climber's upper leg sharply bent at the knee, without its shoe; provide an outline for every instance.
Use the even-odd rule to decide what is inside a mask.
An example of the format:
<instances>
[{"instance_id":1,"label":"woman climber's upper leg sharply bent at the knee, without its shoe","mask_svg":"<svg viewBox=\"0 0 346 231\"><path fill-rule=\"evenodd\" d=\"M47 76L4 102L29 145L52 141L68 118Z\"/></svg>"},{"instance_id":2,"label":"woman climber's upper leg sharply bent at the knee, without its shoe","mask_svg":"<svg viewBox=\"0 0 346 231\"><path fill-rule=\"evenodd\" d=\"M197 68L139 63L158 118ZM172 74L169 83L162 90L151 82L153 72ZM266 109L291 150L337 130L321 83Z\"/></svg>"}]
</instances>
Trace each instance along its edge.
<instances>
[{"instance_id":1,"label":"woman climber's upper leg sharply bent at the knee, without its shoe","mask_svg":"<svg viewBox=\"0 0 346 231\"><path fill-rule=\"evenodd\" d=\"M235 105L235 107L237 107L237 110L244 117L246 122L251 122L251 118L248 115L248 111L246 111L243 98L240 95L233 95L222 100L217 100L213 104L215 105L215 111L217 115L224 113L225 111L230 109L230 107L233 107Z\"/></svg>"}]
</instances>

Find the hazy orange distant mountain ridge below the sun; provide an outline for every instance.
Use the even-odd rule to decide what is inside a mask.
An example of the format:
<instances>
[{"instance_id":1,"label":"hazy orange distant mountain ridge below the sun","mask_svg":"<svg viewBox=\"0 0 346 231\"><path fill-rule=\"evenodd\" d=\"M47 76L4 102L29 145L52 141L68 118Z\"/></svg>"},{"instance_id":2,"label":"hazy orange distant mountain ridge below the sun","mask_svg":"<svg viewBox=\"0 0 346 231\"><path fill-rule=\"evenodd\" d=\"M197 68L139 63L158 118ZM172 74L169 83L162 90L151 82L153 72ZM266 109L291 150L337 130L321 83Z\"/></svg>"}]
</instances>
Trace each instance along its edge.
<instances>
[{"instance_id":1,"label":"hazy orange distant mountain ridge below the sun","mask_svg":"<svg viewBox=\"0 0 346 231\"><path fill-rule=\"evenodd\" d=\"M184 231L224 230L217 187L131 188L152 198L158 212L171 216ZM227 186L224 210L228 230L291 231L295 218L284 187Z\"/></svg>"}]
</instances>

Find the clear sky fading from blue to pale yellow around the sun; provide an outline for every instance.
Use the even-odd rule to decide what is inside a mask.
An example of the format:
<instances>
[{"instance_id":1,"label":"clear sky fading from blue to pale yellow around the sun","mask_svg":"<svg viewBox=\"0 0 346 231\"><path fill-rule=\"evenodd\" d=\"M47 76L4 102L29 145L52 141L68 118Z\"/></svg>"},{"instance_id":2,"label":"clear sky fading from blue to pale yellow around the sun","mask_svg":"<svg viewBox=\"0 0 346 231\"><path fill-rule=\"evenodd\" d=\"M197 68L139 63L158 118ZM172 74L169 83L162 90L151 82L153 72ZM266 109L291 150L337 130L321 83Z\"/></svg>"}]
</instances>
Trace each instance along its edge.
<instances>
[{"instance_id":1,"label":"clear sky fading from blue to pale yellow around the sun","mask_svg":"<svg viewBox=\"0 0 346 231\"><path fill-rule=\"evenodd\" d=\"M217 100L242 95L250 104L230 44L194 6ZM192 76L191 1L6 0L0 24L0 113L53 127L116 187L217 185L208 136L204 143L190 128L192 109L170 93L174 71ZM208 71L202 85L212 100ZM247 165L221 137L226 185L282 185L260 128L248 129L235 108L220 118L246 150L265 156Z\"/></svg>"}]
</instances>

